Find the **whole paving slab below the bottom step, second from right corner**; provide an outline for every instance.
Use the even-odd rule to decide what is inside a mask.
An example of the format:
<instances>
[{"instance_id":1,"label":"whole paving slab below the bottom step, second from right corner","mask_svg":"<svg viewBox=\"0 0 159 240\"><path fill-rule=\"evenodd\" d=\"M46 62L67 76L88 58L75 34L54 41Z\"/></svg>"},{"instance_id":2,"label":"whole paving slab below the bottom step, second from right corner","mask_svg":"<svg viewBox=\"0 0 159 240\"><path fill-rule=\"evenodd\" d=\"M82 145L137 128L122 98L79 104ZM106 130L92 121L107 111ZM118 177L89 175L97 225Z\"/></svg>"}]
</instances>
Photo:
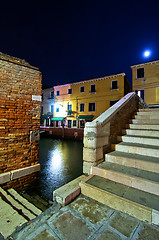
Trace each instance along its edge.
<instances>
[{"instance_id":1,"label":"whole paving slab below the bottom step, second from right corner","mask_svg":"<svg viewBox=\"0 0 159 240\"><path fill-rule=\"evenodd\" d=\"M130 237L137 224L137 220L130 218L129 216L117 213L109 225L118 230L124 236Z\"/></svg>"}]
</instances>

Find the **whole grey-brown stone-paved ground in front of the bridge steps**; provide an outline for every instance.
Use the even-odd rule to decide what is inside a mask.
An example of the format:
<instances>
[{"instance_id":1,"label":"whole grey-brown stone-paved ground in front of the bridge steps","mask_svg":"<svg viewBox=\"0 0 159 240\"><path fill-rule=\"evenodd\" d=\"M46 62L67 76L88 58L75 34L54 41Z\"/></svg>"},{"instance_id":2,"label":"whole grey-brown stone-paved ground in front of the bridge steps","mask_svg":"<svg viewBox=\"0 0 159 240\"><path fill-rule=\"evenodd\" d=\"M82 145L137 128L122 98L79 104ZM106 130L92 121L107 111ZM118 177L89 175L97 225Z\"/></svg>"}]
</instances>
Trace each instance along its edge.
<instances>
[{"instance_id":1,"label":"whole grey-brown stone-paved ground in front of the bridge steps","mask_svg":"<svg viewBox=\"0 0 159 240\"><path fill-rule=\"evenodd\" d=\"M35 219L23 224L7 239L157 240L159 227L80 195L65 207L55 203Z\"/></svg>"}]
</instances>

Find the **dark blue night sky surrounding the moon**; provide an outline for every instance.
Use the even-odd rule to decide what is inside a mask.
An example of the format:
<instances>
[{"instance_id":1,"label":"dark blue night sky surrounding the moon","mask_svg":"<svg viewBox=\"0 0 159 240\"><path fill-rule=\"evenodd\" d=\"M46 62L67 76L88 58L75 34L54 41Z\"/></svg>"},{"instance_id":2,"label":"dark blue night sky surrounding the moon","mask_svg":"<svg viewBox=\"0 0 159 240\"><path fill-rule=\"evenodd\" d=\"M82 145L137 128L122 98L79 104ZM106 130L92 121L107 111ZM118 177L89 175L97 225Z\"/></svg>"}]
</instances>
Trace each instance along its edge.
<instances>
[{"instance_id":1,"label":"dark blue night sky surrounding the moon","mask_svg":"<svg viewBox=\"0 0 159 240\"><path fill-rule=\"evenodd\" d=\"M159 1L2 1L0 52L39 67L51 86L159 59ZM149 58L143 57L151 50Z\"/></svg>"}]
</instances>

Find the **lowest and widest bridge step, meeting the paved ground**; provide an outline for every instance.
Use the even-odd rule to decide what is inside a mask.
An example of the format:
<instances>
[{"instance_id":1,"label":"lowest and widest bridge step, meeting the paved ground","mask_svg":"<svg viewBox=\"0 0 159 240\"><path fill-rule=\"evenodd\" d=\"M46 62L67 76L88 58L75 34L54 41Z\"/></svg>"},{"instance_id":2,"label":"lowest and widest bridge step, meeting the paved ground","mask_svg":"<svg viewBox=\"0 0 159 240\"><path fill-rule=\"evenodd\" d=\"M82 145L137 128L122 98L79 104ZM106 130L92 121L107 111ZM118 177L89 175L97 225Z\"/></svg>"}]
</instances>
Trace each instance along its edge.
<instances>
[{"instance_id":1,"label":"lowest and widest bridge step, meeting the paved ground","mask_svg":"<svg viewBox=\"0 0 159 240\"><path fill-rule=\"evenodd\" d=\"M159 196L100 176L89 176L80 183L82 194L125 212L141 221L159 224Z\"/></svg>"}]
</instances>

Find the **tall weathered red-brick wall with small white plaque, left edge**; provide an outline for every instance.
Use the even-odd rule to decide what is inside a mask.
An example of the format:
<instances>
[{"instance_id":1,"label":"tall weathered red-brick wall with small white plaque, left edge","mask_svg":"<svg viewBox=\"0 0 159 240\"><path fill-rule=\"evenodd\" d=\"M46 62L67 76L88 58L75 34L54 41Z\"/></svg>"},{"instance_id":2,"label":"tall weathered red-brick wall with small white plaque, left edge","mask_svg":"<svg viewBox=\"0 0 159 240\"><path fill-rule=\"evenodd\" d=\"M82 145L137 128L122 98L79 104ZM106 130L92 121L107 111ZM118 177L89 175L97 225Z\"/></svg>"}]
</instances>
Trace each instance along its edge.
<instances>
[{"instance_id":1,"label":"tall weathered red-brick wall with small white plaque, left edge","mask_svg":"<svg viewBox=\"0 0 159 240\"><path fill-rule=\"evenodd\" d=\"M41 72L0 53L0 184L21 189L36 179Z\"/></svg>"}]
</instances>

